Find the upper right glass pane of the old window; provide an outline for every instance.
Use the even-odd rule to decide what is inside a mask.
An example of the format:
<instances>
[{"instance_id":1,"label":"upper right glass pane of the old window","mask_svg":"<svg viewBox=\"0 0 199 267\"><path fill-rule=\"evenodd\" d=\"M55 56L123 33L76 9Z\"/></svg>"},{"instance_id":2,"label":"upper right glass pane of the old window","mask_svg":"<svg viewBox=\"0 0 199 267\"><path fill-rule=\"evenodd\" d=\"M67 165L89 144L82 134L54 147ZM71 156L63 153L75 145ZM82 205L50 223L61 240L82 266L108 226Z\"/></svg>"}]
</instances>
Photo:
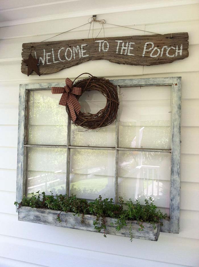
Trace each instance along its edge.
<instances>
[{"instance_id":1,"label":"upper right glass pane of the old window","mask_svg":"<svg viewBox=\"0 0 199 267\"><path fill-rule=\"evenodd\" d=\"M119 146L170 148L171 86L120 90Z\"/></svg>"}]
</instances>

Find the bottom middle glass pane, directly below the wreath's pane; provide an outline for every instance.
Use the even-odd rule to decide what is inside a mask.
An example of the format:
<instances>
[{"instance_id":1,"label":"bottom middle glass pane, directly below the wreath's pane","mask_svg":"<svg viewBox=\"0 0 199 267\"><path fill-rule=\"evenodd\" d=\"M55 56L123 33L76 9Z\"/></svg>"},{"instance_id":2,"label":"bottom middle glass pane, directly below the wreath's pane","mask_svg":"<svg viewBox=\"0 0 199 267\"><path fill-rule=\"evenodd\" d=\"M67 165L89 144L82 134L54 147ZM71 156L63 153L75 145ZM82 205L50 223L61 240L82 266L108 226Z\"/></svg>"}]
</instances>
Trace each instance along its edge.
<instances>
[{"instance_id":1,"label":"bottom middle glass pane, directly below the wreath's pane","mask_svg":"<svg viewBox=\"0 0 199 267\"><path fill-rule=\"evenodd\" d=\"M113 198L115 151L71 149L70 194L79 198Z\"/></svg>"}]
</instances>

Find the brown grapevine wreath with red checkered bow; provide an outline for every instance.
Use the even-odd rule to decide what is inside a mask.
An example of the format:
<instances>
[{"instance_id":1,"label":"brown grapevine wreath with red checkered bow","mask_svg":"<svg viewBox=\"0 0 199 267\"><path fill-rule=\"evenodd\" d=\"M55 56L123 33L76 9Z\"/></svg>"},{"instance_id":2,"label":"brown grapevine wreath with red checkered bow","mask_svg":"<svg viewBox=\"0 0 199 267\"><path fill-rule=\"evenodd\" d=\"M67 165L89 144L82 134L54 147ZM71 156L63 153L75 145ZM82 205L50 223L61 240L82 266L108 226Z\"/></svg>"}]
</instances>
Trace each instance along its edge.
<instances>
[{"instance_id":1,"label":"brown grapevine wreath with red checkered bow","mask_svg":"<svg viewBox=\"0 0 199 267\"><path fill-rule=\"evenodd\" d=\"M88 74L90 77L74 83L82 74ZM66 111L76 126L94 130L110 125L115 121L119 107L117 87L105 78L98 78L87 72L82 74L74 81L67 78L65 87L51 87L51 92L62 93L59 105L66 106ZM99 91L106 97L106 105L96 114L81 112L78 99L84 92L92 90Z\"/></svg>"}]
</instances>

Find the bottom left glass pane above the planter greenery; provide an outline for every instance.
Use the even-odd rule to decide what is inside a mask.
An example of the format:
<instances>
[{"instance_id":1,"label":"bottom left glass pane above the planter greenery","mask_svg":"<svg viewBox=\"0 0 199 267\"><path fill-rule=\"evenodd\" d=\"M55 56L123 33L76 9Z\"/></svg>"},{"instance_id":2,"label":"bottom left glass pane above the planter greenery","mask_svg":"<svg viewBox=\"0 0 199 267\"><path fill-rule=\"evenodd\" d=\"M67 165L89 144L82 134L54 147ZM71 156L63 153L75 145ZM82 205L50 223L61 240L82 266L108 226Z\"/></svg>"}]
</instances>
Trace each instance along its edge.
<instances>
[{"instance_id":1,"label":"bottom left glass pane above the planter greenery","mask_svg":"<svg viewBox=\"0 0 199 267\"><path fill-rule=\"evenodd\" d=\"M64 148L29 147L27 155L27 195L65 193L66 152Z\"/></svg>"}]
</instances>

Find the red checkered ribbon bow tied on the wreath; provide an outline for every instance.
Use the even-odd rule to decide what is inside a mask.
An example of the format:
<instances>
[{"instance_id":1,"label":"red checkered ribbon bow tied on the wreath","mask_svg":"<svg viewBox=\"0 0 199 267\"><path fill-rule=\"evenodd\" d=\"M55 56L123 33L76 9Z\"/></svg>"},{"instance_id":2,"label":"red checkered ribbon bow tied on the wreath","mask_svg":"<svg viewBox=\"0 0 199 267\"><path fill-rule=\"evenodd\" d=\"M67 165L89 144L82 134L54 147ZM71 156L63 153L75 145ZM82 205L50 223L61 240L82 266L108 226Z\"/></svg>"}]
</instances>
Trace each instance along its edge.
<instances>
[{"instance_id":1,"label":"red checkered ribbon bow tied on the wreath","mask_svg":"<svg viewBox=\"0 0 199 267\"><path fill-rule=\"evenodd\" d=\"M81 95L81 87L72 87L73 82L66 78L66 85L64 87L51 87L52 94L62 94L59 105L66 106L68 105L72 121L76 120L76 114L79 114L81 106L75 95Z\"/></svg>"}]
</instances>

